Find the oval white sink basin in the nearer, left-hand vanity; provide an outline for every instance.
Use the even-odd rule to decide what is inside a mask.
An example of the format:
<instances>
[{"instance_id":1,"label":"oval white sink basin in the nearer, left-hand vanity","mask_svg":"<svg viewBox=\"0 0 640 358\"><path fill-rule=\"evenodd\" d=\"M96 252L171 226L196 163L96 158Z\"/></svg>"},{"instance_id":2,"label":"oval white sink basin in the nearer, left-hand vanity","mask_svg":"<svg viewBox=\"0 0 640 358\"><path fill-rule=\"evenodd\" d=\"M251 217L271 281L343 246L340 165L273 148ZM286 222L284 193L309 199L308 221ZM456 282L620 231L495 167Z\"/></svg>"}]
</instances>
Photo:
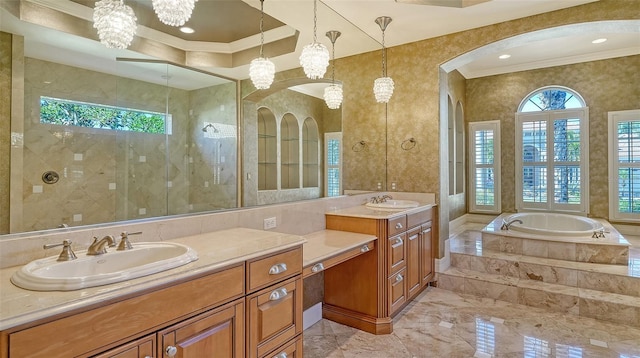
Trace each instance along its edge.
<instances>
[{"instance_id":1,"label":"oval white sink basin in the nearer, left-hand vanity","mask_svg":"<svg viewBox=\"0 0 640 358\"><path fill-rule=\"evenodd\" d=\"M133 249L103 255L76 253L72 261L58 256L34 260L13 274L11 282L35 291L72 291L130 280L169 270L198 259L195 250L169 242L138 242Z\"/></svg>"}]
</instances>

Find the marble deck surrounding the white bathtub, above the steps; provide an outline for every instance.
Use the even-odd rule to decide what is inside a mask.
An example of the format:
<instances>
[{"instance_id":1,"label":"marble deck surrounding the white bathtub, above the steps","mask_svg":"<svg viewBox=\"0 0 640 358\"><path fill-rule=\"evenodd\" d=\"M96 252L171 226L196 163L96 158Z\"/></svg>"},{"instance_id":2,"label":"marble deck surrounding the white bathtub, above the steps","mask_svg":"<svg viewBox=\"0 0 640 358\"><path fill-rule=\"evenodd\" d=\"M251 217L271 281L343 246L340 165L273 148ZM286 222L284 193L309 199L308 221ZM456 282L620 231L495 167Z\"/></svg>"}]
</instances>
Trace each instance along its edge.
<instances>
[{"instance_id":1,"label":"marble deck surrounding the white bathtub, above the steps","mask_svg":"<svg viewBox=\"0 0 640 358\"><path fill-rule=\"evenodd\" d=\"M606 220L593 219L602 223L604 237L593 237L593 233L584 236L562 236L561 233L538 235L501 229L503 219L510 215L502 214L482 229L483 249L565 261L613 265L629 263L631 245Z\"/></svg>"}]
</instances>

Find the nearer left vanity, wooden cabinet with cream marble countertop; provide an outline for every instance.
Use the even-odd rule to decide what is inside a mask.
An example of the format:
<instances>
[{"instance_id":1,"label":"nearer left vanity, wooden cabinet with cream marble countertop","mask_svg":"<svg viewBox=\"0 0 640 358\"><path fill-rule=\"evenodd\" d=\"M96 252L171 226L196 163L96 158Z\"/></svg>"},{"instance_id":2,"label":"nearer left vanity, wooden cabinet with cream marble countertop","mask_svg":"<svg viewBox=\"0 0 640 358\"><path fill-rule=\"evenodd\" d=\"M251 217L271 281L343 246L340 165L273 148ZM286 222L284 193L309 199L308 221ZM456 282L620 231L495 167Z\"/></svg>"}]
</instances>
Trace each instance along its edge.
<instances>
[{"instance_id":1,"label":"nearer left vanity, wooden cabinet with cream marble countertop","mask_svg":"<svg viewBox=\"0 0 640 358\"><path fill-rule=\"evenodd\" d=\"M27 291L1 270L0 357L301 356L303 237L239 228L174 241L198 261L107 286Z\"/></svg>"}]
</instances>

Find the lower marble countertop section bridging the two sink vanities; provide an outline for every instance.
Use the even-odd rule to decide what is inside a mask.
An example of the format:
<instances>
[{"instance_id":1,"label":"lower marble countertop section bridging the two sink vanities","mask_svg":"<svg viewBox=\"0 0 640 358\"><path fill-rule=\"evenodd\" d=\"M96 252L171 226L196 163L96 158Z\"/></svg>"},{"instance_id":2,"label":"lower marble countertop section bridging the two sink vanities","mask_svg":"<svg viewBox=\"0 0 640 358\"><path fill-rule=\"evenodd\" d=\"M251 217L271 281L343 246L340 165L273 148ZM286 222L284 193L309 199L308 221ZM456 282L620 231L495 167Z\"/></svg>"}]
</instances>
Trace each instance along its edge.
<instances>
[{"instance_id":1,"label":"lower marble countertop section bridging the two sink vanities","mask_svg":"<svg viewBox=\"0 0 640 358\"><path fill-rule=\"evenodd\" d=\"M375 235L358 234L354 232L321 230L304 235L307 242L303 246L302 261L307 267L328 259L342 252L360 247L376 240Z\"/></svg>"}]
</instances>

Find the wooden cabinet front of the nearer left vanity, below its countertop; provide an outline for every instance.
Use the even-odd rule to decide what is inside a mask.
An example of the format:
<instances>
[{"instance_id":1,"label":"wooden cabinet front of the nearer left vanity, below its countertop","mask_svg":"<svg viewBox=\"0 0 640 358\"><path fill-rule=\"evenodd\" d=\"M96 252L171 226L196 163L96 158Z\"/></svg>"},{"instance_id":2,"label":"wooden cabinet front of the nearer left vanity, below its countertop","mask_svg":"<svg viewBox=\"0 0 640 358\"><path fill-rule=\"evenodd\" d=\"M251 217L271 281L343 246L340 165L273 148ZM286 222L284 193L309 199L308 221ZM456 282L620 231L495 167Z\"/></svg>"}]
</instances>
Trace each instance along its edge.
<instances>
[{"instance_id":1,"label":"wooden cabinet front of the nearer left vanity, below its countertop","mask_svg":"<svg viewBox=\"0 0 640 358\"><path fill-rule=\"evenodd\" d=\"M0 332L0 358L291 358L301 333L299 245Z\"/></svg>"}]
</instances>

